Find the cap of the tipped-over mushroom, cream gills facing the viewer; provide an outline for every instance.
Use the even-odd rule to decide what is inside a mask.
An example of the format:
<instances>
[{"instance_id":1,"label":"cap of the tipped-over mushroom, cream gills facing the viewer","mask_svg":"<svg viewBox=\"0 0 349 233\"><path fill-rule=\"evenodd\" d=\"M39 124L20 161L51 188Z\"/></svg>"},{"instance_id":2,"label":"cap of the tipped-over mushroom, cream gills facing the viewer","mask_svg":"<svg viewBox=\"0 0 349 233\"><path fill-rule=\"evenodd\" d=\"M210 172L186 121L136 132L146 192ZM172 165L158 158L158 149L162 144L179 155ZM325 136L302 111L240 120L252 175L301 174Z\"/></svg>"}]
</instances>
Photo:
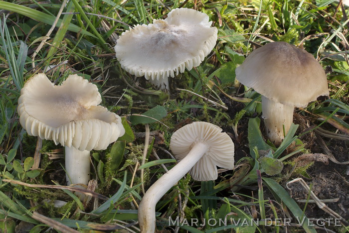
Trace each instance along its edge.
<instances>
[{"instance_id":1,"label":"cap of the tipped-over mushroom, cream gills facing the viewer","mask_svg":"<svg viewBox=\"0 0 349 233\"><path fill-rule=\"evenodd\" d=\"M218 176L217 166L234 167L233 141L220 127L211 123L198 121L181 127L172 135L170 148L179 162L198 142L207 145L208 149L189 171L194 180L215 180Z\"/></svg>"}]
</instances>

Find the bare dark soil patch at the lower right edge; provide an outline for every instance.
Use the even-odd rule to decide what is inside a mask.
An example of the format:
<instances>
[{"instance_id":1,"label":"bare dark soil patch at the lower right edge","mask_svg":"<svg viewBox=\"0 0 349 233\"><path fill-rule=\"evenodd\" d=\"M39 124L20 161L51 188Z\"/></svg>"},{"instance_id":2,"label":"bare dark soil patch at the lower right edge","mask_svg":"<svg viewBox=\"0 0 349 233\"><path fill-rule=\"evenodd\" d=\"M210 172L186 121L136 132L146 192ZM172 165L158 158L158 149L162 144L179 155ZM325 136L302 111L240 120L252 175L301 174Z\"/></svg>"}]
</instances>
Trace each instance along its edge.
<instances>
[{"instance_id":1,"label":"bare dark soil patch at the lower right edge","mask_svg":"<svg viewBox=\"0 0 349 233\"><path fill-rule=\"evenodd\" d=\"M317 135L319 137L319 135ZM327 140L329 149L334 157L339 162L348 161L348 147L345 141ZM315 144L312 152L319 153L321 150ZM323 162L315 162L313 166L308 169L308 174L311 179L303 177L309 185L313 184L312 191L320 199L335 199L331 202L325 203L330 209L335 211L344 219L349 219L349 175L347 175L348 164L337 164L329 161L328 164ZM289 193L295 200L307 199L308 193L299 183L289 185ZM300 205L301 208L304 204ZM330 216L318 208L315 204L307 206L306 215L312 218L329 218Z\"/></svg>"}]
</instances>

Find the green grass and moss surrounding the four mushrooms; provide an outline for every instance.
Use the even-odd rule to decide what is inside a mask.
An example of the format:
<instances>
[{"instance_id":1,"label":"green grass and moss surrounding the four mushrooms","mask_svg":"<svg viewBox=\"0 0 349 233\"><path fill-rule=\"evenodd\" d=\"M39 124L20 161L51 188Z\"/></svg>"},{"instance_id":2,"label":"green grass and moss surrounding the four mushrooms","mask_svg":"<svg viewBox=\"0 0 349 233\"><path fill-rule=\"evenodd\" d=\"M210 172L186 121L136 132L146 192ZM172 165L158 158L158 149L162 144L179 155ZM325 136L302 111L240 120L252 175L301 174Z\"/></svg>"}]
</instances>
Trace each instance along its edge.
<instances>
[{"instance_id":1,"label":"green grass and moss surrounding the four mushrooms","mask_svg":"<svg viewBox=\"0 0 349 233\"><path fill-rule=\"evenodd\" d=\"M35 0L0 1L0 232L5 229L14 232L20 222L31 223L31 232L45 232L57 223L78 231L124 229L139 232L137 206L143 196L142 184L147 189L164 174L162 166L170 169L175 164L169 148L172 133L198 120L217 124L231 133L239 154L235 159L236 169L220 173L214 182L196 182L189 175L182 178L157 205L158 230L165 227L174 231L175 227L166 227L169 216L174 219L181 215L188 220L218 220L228 216L248 221L256 217L305 216L306 208L311 205L297 203L285 186L290 177L307 174L304 170L295 172L300 169L292 169L292 159L302 153L312 153L318 147L316 142L308 140L318 128L327 130L326 142L331 150L335 150L331 147L334 142L344 140L347 148L349 146L349 20L346 17L349 10L337 4L333 0L73 0L64 7L50 37L44 38L61 7L57 1L43 4ZM127 25L163 18L179 5L207 13L218 28L218 40L199 67L172 79L169 94L121 69L113 54L113 35L121 35L128 29ZM43 39L47 41L32 63L33 52ZM235 80L235 68L246 55L270 40L303 46L324 69L331 70L328 73L329 99L296 109L312 128L303 130L302 125L293 125L279 148L266 141L260 129L260 95L244 89ZM48 65L56 66L46 72L56 84L69 74L82 75L96 84L103 93L102 105L124 119L127 136L122 140L125 142L119 141L105 151L91 153L91 177L97 181L95 192L107 197L107 201L92 198L82 202L68 190L31 186L65 185L62 147L53 142L42 141L38 148L40 166L30 170L37 138L26 134L16 113L25 81L43 72ZM200 96L227 107L228 111ZM134 116L130 116L132 114ZM145 123L149 123L151 131L160 130L164 134L159 136L160 142L155 138L150 143L148 162L141 167L144 169L142 183L139 169L144 137L140 133L145 131ZM160 160L154 156L154 151ZM58 158L52 159L52 153ZM264 155L267 161L262 159ZM313 163L305 164L305 169L314 167L310 164ZM270 170L276 174L267 175ZM348 176L341 175L348 181ZM4 179L27 185L10 184ZM57 207L55 201L66 204ZM33 212L40 212L50 222L39 223L32 218ZM179 232L285 230L284 226L274 226L275 223L262 225L183 226L179 227ZM328 229L348 232L348 227L344 226ZM288 230L316 232L318 229L303 224L288 227Z\"/></svg>"}]
</instances>

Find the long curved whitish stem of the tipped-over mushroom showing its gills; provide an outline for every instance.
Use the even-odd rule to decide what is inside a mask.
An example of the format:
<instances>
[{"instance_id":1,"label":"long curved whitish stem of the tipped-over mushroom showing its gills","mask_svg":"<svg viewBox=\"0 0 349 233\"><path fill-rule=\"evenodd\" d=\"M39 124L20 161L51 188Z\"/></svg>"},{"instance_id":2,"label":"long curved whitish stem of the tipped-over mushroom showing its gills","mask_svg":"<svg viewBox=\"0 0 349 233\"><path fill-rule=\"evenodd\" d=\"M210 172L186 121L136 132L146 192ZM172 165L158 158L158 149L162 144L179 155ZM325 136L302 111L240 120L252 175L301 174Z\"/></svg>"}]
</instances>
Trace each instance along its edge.
<instances>
[{"instance_id":1,"label":"long curved whitish stem of the tipped-over mushroom showing its gills","mask_svg":"<svg viewBox=\"0 0 349 233\"><path fill-rule=\"evenodd\" d=\"M190 152L170 171L157 180L146 192L138 208L141 233L154 233L155 207L158 201L173 187L207 152L208 146L195 143Z\"/></svg>"}]
</instances>

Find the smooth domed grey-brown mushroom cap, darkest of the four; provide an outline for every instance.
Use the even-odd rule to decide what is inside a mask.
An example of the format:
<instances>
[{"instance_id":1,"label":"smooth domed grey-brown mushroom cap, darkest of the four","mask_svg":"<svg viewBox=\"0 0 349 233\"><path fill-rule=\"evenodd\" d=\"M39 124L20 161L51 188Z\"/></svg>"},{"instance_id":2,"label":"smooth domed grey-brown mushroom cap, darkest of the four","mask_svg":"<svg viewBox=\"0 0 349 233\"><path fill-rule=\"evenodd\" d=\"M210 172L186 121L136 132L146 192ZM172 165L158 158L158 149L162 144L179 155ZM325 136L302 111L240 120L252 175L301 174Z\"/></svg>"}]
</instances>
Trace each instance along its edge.
<instances>
[{"instance_id":1,"label":"smooth domed grey-brown mushroom cap, darkest of the four","mask_svg":"<svg viewBox=\"0 0 349 233\"><path fill-rule=\"evenodd\" d=\"M319 96L330 94L320 63L312 54L286 42L254 50L235 74L243 85L283 105L306 107Z\"/></svg>"}]
</instances>

